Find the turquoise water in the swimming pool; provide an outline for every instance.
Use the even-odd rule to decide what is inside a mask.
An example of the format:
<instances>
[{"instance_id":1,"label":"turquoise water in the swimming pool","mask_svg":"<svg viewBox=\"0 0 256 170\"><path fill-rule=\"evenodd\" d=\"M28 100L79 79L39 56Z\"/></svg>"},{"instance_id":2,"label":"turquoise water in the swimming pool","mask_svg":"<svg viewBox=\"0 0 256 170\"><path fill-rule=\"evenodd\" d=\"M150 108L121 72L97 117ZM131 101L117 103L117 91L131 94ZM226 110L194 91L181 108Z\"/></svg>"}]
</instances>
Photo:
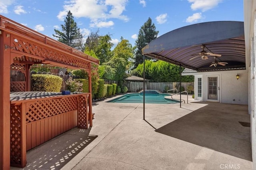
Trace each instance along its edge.
<instances>
[{"instance_id":1,"label":"turquoise water in the swimming pool","mask_svg":"<svg viewBox=\"0 0 256 170\"><path fill-rule=\"evenodd\" d=\"M145 103L149 104L176 104L179 103L175 100L165 99L168 94L145 94ZM130 93L124 96L120 96L114 100L110 100L112 103L143 103L143 93Z\"/></svg>"}]
</instances>

